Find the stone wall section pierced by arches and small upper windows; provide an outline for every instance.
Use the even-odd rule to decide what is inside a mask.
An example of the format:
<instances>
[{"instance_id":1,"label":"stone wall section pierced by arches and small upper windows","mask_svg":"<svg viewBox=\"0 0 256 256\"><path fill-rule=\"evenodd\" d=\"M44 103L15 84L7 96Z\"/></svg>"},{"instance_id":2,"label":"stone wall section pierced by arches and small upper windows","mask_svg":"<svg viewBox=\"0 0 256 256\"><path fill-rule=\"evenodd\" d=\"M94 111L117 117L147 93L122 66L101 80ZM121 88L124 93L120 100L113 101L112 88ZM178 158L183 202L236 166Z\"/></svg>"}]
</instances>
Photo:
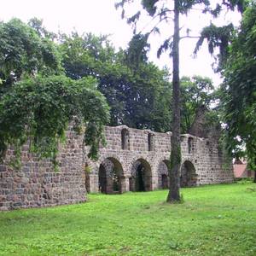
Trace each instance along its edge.
<instances>
[{"instance_id":1,"label":"stone wall section pierced by arches and small upper windows","mask_svg":"<svg viewBox=\"0 0 256 256\"><path fill-rule=\"evenodd\" d=\"M122 149L122 130L129 131L129 146ZM89 175L90 192L99 188L98 170L106 159L113 162L113 168L119 169L120 192L131 190L131 177L138 166L144 166L151 179L151 189L161 189L161 175L168 170L172 133L159 133L149 130L137 130L125 125L106 126L107 147L100 148L100 158L96 162L85 159L91 166ZM153 137L153 150L148 151L148 134ZM196 185L209 183L231 183L234 180L231 162L224 159L218 144L210 139L185 134L181 137L182 163L189 161L195 167ZM190 146L189 146L190 143Z\"/></svg>"}]
</instances>

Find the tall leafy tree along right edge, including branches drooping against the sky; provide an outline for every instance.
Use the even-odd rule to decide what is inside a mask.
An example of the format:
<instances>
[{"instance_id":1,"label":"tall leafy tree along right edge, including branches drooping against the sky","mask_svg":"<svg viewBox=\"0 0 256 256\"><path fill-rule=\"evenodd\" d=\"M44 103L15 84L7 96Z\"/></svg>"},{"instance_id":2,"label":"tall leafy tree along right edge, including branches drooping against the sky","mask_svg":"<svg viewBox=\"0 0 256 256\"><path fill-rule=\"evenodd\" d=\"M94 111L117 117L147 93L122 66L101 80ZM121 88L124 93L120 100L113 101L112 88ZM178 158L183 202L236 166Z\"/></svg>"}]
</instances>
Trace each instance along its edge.
<instances>
[{"instance_id":1,"label":"tall leafy tree along right edge, including branches drooping against the sky","mask_svg":"<svg viewBox=\"0 0 256 256\"><path fill-rule=\"evenodd\" d=\"M225 125L226 148L231 156L246 156L248 168L256 170L255 141L255 3L253 1L224 2L227 9L237 9L242 15L241 26L207 26L201 32L195 52L207 40L215 59L217 72L224 77L220 99ZM218 13L217 13L218 15ZM256 172L254 182L256 182Z\"/></svg>"}]
</instances>

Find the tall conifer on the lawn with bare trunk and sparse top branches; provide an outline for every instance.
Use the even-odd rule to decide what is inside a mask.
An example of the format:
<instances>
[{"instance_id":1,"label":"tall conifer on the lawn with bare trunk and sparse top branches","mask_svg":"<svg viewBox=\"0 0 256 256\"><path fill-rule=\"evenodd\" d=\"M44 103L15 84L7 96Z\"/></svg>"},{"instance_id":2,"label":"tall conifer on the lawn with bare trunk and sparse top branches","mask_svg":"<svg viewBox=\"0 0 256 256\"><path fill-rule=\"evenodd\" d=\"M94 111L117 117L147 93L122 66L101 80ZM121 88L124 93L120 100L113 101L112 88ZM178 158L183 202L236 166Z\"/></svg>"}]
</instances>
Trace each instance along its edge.
<instances>
[{"instance_id":1,"label":"tall conifer on the lawn with bare trunk and sparse top branches","mask_svg":"<svg viewBox=\"0 0 256 256\"><path fill-rule=\"evenodd\" d=\"M123 9L122 16L125 17L126 3L132 3L135 1L122 0L116 3L116 7ZM167 196L168 202L180 201L179 193L179 176L181 167L181 148L180 148L180 79L179 79L179 42L180 42L180 15L188 15L189 10L195 5L203 5L203 11L209 10L209 1L207 0L173 0L171 2L161 0L143 0L143 9L151 17L152 23L148 32L138 32L141 34L142 42L147 45L147 39L152 32L159 32L159 24L164 21L173 20L173 32L169 38L166 38L164 43L160 45L158 55L161 52L168 50L172 56L172 152L171 152L171 168L169 172L170 177L170 189ZM138 11L135 15L128 17L127 21L132 24L136 31L137 21L142 15L142 11ZM172 15L172 17L170 17ZM157 20L156 23L154 20ZM171 30L171 29L170 29ZM137 37L137 35L135 35ZM141 50L141 49L139 49Z\"/></svg>"}]
</instances>

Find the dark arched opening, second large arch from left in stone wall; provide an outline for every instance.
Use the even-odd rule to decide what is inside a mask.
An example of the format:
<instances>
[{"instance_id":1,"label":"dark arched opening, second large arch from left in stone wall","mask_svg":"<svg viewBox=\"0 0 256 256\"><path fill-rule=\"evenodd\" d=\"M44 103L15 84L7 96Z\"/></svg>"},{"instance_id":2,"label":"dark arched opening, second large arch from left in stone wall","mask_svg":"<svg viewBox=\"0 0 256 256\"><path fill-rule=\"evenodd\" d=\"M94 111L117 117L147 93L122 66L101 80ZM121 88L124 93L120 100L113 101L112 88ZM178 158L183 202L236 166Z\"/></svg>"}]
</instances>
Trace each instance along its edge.
<instances>
[{"instance_id":1,"label":"dark arched opening, second large arch from left in stone wall","mask_svg":"<svg viewBox=\"0 0 256 256\"><path fill-rule=\"evenodd\" d=\"M152 190L151 167L146 160L139 159L134 162L129 181L131 191Z\"/></svg>"}]
</instances>

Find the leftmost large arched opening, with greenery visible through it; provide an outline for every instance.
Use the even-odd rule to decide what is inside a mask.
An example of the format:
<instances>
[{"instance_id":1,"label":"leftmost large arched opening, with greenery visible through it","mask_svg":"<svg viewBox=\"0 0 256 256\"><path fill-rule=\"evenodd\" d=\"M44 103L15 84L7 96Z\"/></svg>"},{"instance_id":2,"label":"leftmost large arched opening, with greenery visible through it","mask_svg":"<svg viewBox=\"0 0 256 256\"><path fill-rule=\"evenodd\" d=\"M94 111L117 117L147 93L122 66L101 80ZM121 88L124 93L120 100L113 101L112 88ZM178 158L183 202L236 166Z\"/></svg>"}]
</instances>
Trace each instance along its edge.
<instances>
[{"instance_id":1,"label":"leftmost large arched opening, with greenery visible through it","mask_svg":"<svg viewBox=\"0 0 256 256\"><path fill-rule=\"evenodd\" d=\"M104 194L122 193L123 168L119 160L107 158L99 168L99 191Z\"/></svg>"}]
</instances>

